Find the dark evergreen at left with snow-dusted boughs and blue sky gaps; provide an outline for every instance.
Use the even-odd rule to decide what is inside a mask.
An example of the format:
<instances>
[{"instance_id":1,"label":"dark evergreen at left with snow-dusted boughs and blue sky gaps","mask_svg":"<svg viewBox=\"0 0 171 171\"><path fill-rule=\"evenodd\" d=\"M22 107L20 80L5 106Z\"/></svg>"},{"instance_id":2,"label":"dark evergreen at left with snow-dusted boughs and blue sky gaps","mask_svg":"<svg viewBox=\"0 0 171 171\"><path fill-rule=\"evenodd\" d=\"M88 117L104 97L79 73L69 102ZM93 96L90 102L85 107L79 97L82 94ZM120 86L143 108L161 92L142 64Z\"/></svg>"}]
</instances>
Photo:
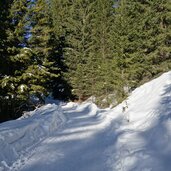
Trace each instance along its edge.
<instances>
[{"instance_id":1,"label":"dark evergreen at left with snow-dusted boughs and blue sky gaps","mask_svg":"<svg viewBox=\"0 0 171 171\"><path fill-rule=\"evenodd\" d=\"M51 79L58 76L48 9L45 1L19 0L9 6L4 56L7 69L0 80L1 98L5 102L2 113L12 114L8 119L34 107L35 98L44 102L52 89Z\"/></svg>"}]
</instances>

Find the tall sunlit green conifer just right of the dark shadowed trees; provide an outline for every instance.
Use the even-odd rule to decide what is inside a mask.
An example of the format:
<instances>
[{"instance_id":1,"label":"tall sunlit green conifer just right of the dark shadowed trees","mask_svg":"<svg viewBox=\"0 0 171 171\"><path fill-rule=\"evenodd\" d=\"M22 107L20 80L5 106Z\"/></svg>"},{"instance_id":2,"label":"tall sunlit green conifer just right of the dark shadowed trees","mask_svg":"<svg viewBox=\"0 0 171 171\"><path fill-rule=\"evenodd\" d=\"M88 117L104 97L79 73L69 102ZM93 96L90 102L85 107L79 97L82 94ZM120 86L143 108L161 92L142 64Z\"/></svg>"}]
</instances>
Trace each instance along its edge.
<instances>
[{"instance_id":1,"label":"tall sunlit green conifer just right of the dark shadowed trees","mask_svg":"<svg viewBox=\"0 0 171 171\"><path fill-rule=\"evenodd\" d=\"M57 35L65 37L64 60L68 67L65 77L79 100L90 95L86 67L91 46L93 3L91 0L54 1L54 22L59 26Z\"/></svg>"}]
</instances>

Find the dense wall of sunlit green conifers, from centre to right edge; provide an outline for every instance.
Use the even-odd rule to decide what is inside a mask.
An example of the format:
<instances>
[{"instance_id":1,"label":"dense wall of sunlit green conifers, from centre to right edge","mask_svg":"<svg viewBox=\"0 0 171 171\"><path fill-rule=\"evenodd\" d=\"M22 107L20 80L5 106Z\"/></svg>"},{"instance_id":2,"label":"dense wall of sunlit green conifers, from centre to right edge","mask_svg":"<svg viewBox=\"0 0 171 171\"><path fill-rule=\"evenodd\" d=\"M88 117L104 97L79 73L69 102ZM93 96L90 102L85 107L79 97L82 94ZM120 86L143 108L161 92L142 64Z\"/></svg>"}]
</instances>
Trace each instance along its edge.
<instances>
[{"instance_id":1,"label":"dense wall of sunlit green conifers, from centre to right edge","mask_svg":"<svg viewBox=\"0 0 171 171\"><path fill-rule=\"evenodd\" d=\"M168 0L53 0L52 6L55 35L65 39L64 76L80 100L120 102L169 69Z\"/></svg>"}]
</instances>

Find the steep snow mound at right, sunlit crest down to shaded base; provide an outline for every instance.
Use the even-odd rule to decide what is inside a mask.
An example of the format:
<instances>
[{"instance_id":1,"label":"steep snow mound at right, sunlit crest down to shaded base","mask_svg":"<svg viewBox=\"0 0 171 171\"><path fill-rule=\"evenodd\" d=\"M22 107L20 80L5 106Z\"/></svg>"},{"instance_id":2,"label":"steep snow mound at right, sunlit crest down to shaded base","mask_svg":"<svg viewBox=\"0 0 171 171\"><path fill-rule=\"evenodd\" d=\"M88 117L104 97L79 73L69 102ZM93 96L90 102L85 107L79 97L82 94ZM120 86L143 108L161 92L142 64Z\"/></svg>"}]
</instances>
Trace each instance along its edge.
<instances>
[{"instance_id":1,"label":"steep snow mound at right, sunlit crest down to shaded base","mask_svg":"<svg viewBox=\"0 0 171 171\"><path fill-rule=\"evenodd\" d=\"M170 171L171 72L135 89L113 113L123 122L112 129L119 136L107 151L111 170Z\"/></svg>"}]
</instances>

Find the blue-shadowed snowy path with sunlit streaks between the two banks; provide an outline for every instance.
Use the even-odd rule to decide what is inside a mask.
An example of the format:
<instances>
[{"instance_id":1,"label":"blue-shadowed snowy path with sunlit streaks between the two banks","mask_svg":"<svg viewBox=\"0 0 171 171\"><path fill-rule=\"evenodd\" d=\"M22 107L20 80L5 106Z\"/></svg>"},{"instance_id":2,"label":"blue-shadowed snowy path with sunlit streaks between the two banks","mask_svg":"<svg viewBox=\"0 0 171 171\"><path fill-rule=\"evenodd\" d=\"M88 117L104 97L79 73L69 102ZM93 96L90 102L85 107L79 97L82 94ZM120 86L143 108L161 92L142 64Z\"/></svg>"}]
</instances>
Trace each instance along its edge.
<instances>
[{"instance_id":1,"label":"blue-shadowed snowy path with sunlit streaks between the two banks","mask_svg":"<svg viewBox=\"0 0 171 171\"><path fill-rule=\"evenodd\" d=\"M21 171L104 171L109 170L106 149L115 140L98 111L87 105L82 111L66 112L63 130L41 142L23 163ZM94 113L90 114L93 111ZM84 113L84 115L83 115ZM114 137L115 139L115 137ZM106 164L105 164L106 163ZM13 168L14 169L14 168Z\"/></svg>"}]
</instances>

